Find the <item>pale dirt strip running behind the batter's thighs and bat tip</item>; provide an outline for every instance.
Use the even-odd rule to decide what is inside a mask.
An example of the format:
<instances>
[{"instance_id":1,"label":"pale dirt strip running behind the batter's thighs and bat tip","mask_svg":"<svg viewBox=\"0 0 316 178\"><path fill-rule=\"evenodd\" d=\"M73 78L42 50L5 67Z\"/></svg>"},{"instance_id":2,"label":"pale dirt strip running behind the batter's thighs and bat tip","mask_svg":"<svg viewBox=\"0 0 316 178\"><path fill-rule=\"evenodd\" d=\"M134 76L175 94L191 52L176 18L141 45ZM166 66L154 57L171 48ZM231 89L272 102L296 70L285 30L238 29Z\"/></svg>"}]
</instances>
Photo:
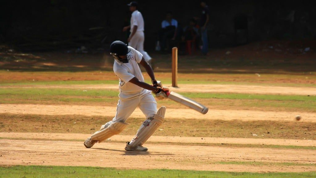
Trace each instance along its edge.
<instances>
[{"instance_id":1,"label":"pale dirt strip running behind the batter's thighs and bat tip","mask_svg":"<svg viewBox=\"0 0 316 178\"><path fill-rule=\"evenodd\" d=\"M31 104L1 104L0 113L12 114L44 114L44 115L72 115L86 116L114 116L114 106L90 106L90 105L31 105ZM222 120L276 120L294 121L296 115L301 115L301 122L316 122L316 114L313 112L275 112L275 111L250 111L250 110L219 110L212 109L205 115L187 108L168 108L166 118L194 118L194 119L222 119ZM137 108L131 115L134 118L142 118L142 111Z\"/></svg>"}]
</instances>

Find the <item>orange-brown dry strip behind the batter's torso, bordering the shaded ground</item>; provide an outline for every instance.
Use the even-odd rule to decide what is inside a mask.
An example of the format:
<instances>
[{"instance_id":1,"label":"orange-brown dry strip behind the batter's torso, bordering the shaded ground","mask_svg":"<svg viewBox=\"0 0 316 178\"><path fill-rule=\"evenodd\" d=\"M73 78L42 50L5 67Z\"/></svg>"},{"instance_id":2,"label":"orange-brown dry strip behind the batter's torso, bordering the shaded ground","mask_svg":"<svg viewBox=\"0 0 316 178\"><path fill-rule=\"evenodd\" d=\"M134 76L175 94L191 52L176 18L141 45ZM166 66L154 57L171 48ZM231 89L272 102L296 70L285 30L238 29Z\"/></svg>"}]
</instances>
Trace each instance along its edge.
<instances>
[{"instance_id":1,"label":"orange-brown dry strip behind the batter's torso, bordering the shaded ground","mask_svg":"<svg viewBox=\"0 0 316 178\"><path fill-rule=\"evenodd\" d=\"M146 82L150 83L147 73L143 72ZM155 72L156 79L163 84L171 83L170 72ZM311 73L260 74L255 73L179 73L181 84L233 84L263 86L316 87L316 75ZM92 85L118 84L113 71L90 72L13 72L0 70L0 85Z\"/></svg>"}]
</instances>

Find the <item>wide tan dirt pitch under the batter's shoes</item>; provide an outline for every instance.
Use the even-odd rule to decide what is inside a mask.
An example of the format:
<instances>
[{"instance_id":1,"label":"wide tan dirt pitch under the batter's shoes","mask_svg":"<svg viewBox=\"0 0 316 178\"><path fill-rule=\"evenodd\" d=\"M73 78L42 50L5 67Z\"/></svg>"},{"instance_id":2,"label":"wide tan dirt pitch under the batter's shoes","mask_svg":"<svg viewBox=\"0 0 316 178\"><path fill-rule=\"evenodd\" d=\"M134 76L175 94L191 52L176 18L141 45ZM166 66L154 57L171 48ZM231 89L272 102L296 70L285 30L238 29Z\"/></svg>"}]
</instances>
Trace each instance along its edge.
<instances>
[{"instance_id":1,"label":"wide tan dirt pitch under the batter's shoes","mask_svg":"<svg viewBox=\"0 0 316 178\"><path fill-rule=\"evenodd\" d=\"M64 139L76 138L68 134L63 135ZM23 133L22 137L24 136L27 137L28 134ZM229 170L236 172L316 171L316 151L308 149L230 148L187 146L185 143L183 145L161 143L146 144L149 151L139 153L125 151L125 143L100 143L91 149L86 149L83 142L49 139L38 141L35 138L32 140L2 139L0 164ZM125 140L127 139L125 138ZM252 163L229 164L229 162L249 161ZM225 164L224 162L228 163ZM260 164L255 162L260 162Z\"/></svg>"}]
</instances>

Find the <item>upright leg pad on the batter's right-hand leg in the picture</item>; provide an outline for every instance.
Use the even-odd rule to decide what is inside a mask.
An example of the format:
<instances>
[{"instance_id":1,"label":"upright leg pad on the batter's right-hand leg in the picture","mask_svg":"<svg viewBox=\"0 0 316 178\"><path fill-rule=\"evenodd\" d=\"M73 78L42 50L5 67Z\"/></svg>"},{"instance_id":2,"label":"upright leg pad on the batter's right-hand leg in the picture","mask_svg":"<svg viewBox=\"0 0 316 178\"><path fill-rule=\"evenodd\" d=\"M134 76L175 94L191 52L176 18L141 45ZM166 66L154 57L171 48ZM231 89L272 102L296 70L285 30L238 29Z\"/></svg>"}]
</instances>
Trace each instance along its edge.
<instances>
[{"instance_id":1,"label":"upright leg pad on the batter's right-hand leg in the picture","mask_svg":"<svg viewBox=\"0 0 316 178\"><path fill-rule=\"evenodd\" d=\"M143 122L143 126L137 131L137 134L130 143L131 148L136 148L138 145L143 145L148 138L153 135L155 130L165 120L166 107L161 106L157 113Z\"/></svg>"}]
</instances>

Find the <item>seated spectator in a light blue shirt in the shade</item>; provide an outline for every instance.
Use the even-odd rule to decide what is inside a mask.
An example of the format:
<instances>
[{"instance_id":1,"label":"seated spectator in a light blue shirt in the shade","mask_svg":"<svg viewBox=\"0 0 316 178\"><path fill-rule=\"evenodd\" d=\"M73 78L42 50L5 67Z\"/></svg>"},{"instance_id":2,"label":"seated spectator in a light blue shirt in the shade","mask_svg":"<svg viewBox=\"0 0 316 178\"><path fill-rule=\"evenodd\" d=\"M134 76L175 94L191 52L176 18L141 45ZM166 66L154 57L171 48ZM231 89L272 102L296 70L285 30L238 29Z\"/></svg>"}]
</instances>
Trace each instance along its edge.
<instances>
[{"instance_id":1,"label":"seated spectator in a light blue shirt in the shade","mask_svg":"<svg viewBox=\"0 0 316 178\"><path fill-rule=\"evenodd\" d=\"M169 11L166 14L166 19L161 22L161 30L159 40L161 40L161 49L167 50L167 40L175 40L177 36L178 21L172 18L172 13Z\"/></svg>"}]
</instances>

